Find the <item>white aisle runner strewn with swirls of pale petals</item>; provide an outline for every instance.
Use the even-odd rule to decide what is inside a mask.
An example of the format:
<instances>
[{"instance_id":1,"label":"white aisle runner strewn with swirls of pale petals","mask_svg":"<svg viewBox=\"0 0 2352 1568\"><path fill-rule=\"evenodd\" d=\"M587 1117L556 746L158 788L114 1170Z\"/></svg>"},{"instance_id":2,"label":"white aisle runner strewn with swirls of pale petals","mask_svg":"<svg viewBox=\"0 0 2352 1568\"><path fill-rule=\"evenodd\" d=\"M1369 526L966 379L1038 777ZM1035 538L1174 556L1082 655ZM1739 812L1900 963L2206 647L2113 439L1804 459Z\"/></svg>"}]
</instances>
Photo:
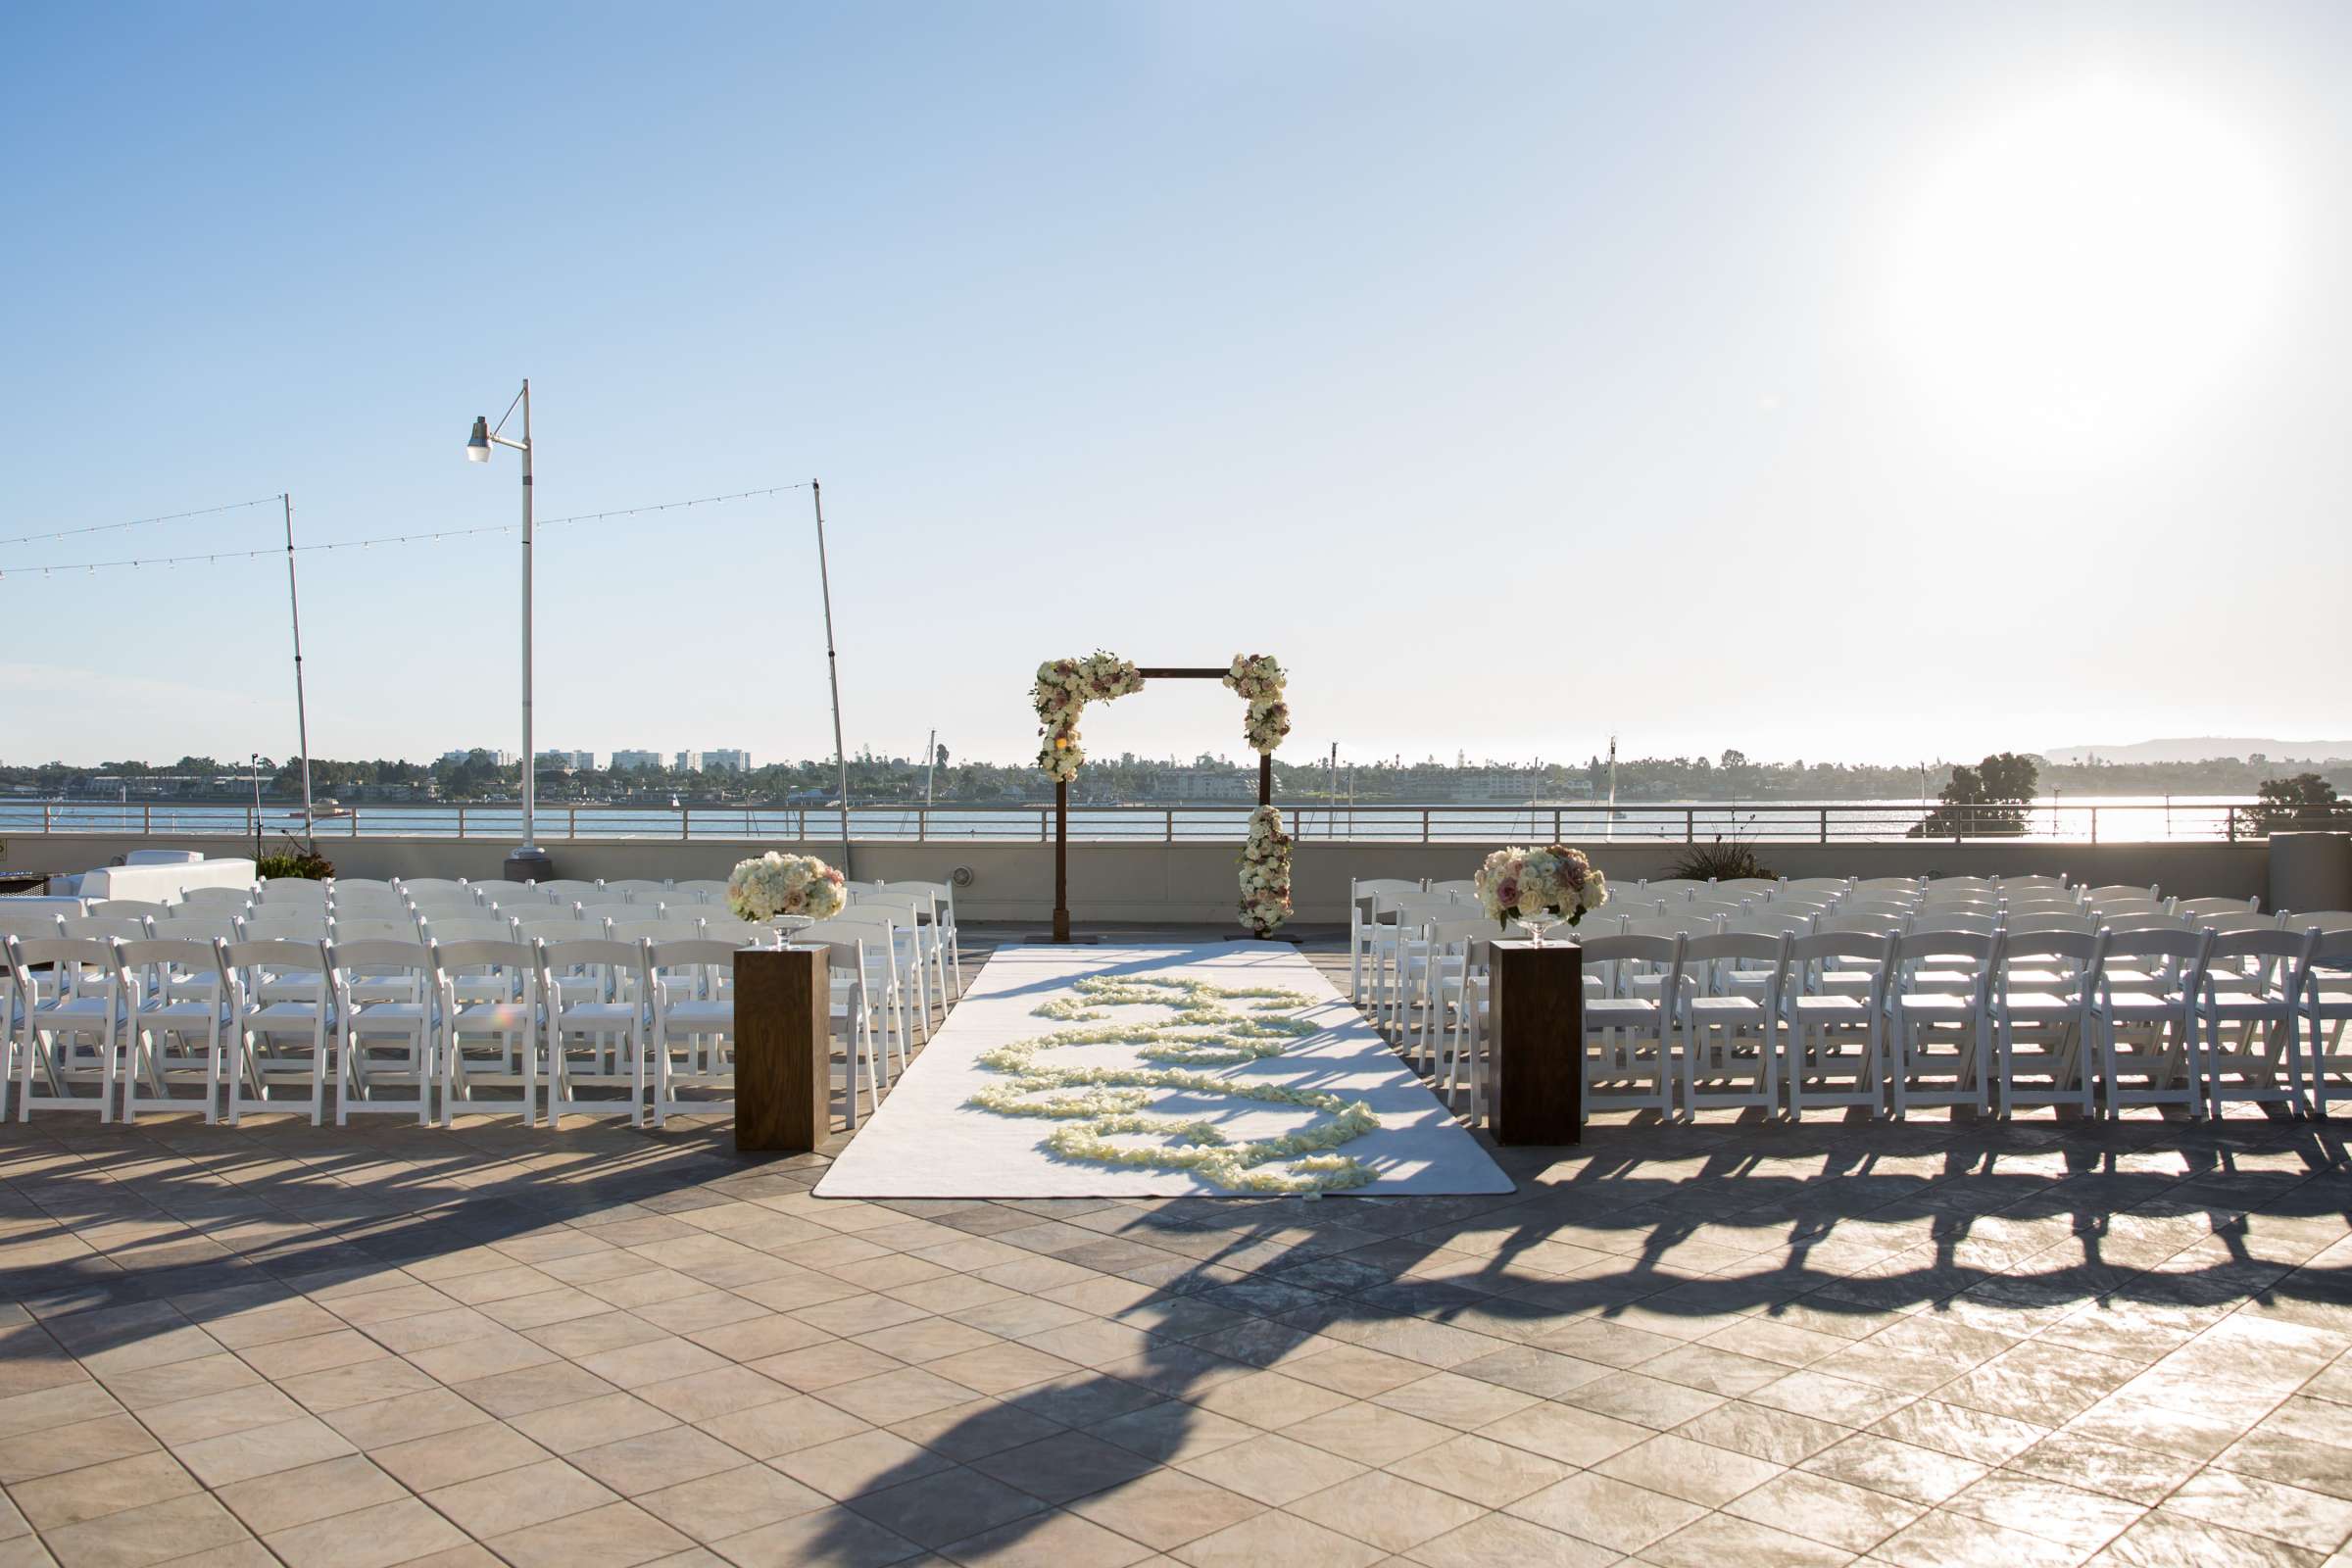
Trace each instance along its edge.
<instances>
[{"instance_id":1,"label":"white aisle runner strewn with swirls of pale petals","mask_svg":"<svg viewBox=\"0 0 2352 1568\"><path fill-rule=\"evenodd\" d=\"M1091 994L1080 987L1091 983ZM1211 1180L1192 1168L1155 1164L1120 1164L1096 1157L1065 1157L1047 1140L1068 1138L1094 1119L1049 1119L1007 1114L971 1105L974 1093L1007 1095L1014 1074L983 1065L978 1058L1011 1041L1035 1041L1054 1032L1105 1034L1120 1025L1167 1030L1169 1037L1209 1037L1216 1025L1185 1027L1178 1018L1185 992L1176 985L1152 987L1152 980L1209 985L1216 992L1192 992L1197 1001L1228 1016L1303 1020L1296 1037L1265 1041L1279 1056L1256 1060L1169 1060L1167 1051L1145 1056L1160 1041L1073 1041L1037 1051L1030 1060L1042 1070L1103 1067L1112 1074L1174 1070L1232 1084L1235 1093L1211 1086L1157 1086L1141 1114L1181 1121L1207 1121L1225 1147L1279 1140L1301 1131L1331 1126L1331 1100L1298 1105L1279 1095L1336 1095L1338 1103L1362 1103L1378 1119L1348 1138L1324 1159L1348 1157L1371 1173L1369 1185L1352 1192L1367 1197L1510 1192L1512 1182L1486 1157L1470 1133L1458 1128L1421 1079L1397 1060L1388 1044L1364 1023L1322 973L1296 947L1284 943L1152 943L1122 947L1000 947L974 978L931 1044L891 1088L849 1140L849 1147L816 1197L837 1199L1047 1199L1047 1197L1200 1197L1232 1194L1232 1171ZM1167 994L1169 1004L1103 1004L1103 983L1120 983L1122 994ZM1232 997L1232 987L1275 987L1298 992L1305 1006L1282 999ZM1049 1004L1049 1016L1035 1009ZM1061 1016L1054 1016L1061 1013ZM1077 1018L1075 1013L1089 1013ZM1240 1030L1240 1034L1249 1034ZM1209 1056L1235 1056L1230 1041L1209 1046ZM1167 1079L1162 1079L1164 1084ZM1037 1098L1087 1093L1087 1086L1040 1091ZM1117 1093L1112 1086L1110 1093ZM1251 1098L1256 1095L1256 1098ZM1268 1100L1265 1095L1277 1095ZM1117 1112L1105 1112L1110 1121ZM1167 1140L1094 1121L1110 1143L1124 1150L1162 1150L1185 1140ZM1150 1159L1150 1154L1145 1154ZM1272 1159L1249 1171L1279 1175L1289 1159Z\"/></svg>"}]
</instances>

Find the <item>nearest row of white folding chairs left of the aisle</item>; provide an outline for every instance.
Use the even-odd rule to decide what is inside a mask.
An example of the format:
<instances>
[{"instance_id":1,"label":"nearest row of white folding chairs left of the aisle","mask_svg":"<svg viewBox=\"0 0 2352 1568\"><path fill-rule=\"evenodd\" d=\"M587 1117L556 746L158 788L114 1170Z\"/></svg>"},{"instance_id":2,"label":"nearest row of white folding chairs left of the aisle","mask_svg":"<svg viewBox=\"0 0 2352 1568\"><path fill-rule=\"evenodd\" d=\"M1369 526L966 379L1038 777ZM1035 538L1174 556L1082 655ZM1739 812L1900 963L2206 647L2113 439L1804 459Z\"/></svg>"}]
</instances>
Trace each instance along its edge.
<instances>
[{"instance_id":1,"label":"nearest row of white folding chairs left of the aisle","mask_svg":"<svg viewBox=\"0 0 2352 1568\"><path fill-rule=\"evenodd\" d=\"M193 940L12 938L7 952L9 973L21 980L35 969L73 969L92 978L26 1009L9 1030L19 1117L94 1107L103 1119L118 1098L127 1117L188 1110L191 1100L172 1095L169 1084L193 1079L202 1084L207 1121L223 1098L233 1121L245 1110L287 1110L289 1103L270 1093L273 1084L292 1084L318 1121L329 1077L339 1121L353 1112L416 1112L430 1119L435 1100L445 1121L459 1110L520 1112L529 1121L541 1081L550 1121L564 1112L626 1112L637 1121L652 1110L659 1121L680 1110L731 1110L729 1103L680 1093L689 1084L731 1081L731 943L207 947ZM306 964L327 976L320 994L263 994L263 976ZM191 990L188 980L207 971L219 983ZM386 985L383 978L395 973L405 983ZM652 973L694 973L699 983L647 987ZM466 978L475 980L473 990L461 985ZM492 980L487 992L482 980ZM842 1046L854 1124L858 1056L873 1088L870 1034L844 1030ZM75 1084L92 1091L73 1093ZM630 1098L590 1100L576 1093L576 1084L628 1084ZM513 1093L482 1093L487 1086ZM0 1105L5 1093L0 1081Z\"/></svg>"}]
</instances>

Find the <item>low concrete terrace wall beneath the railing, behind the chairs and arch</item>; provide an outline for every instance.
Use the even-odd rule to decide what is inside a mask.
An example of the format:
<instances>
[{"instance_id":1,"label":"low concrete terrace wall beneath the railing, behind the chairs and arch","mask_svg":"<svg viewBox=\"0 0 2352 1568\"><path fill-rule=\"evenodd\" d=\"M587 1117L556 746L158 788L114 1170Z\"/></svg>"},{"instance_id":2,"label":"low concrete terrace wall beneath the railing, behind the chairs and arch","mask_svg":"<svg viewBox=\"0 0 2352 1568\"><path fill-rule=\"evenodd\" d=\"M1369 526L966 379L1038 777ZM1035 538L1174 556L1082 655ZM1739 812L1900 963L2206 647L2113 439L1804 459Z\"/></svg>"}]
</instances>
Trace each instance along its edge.
<instances>
[{"instance_id":1,"label":"low concrete terrace wall beneath the railing, behind the chairs and arch","mask_svg":"<svg viewBox=\"0 0 2352 1568\"><path fill-rule=\"evenodd\" d=\"M73 872L106 865L132 849L186 846L238 853L219 837L167 835L16 835L0 849L0 870ZM501 839L336 839L320 849L346 877L496 877ZM840 842L776 844L734 839L614 839L548 844L557 877L724 877L743 856L786 849L840 860ZM1468 877L1494 844L1376 844L1301 839L1294 903L1301 922L1343 922L1350 877ZM1670 875L1682 844L1588 844L1585 853L1613 882ZM2154 882L2166 893L2249 898L2270 907L2270 851L2244 844L1764 844L1759 853L1783 877L2020 877L2067 872L2082 882ZM1073 844L1070 912L1103 922L1235 919L1237 844ZM1051 844L901 844L851 846L861 879L946 879L971 870L957 891L962 919L1047 919L1054 910ZM2352 893L2336 907L2352 905Z\"/></svg>"}]
</instances>

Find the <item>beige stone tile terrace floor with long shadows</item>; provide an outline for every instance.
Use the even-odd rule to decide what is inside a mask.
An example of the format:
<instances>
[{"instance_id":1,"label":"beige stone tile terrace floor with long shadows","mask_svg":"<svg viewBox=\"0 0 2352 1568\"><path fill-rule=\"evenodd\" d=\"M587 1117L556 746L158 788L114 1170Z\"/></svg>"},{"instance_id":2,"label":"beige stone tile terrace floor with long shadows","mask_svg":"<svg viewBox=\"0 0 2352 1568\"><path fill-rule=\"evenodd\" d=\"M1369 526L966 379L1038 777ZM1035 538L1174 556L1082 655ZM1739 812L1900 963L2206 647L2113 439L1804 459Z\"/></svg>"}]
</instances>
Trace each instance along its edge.
<instances>
[{"instance_id":1,"label":"beige stone tile terrace floor with long shadows","mask_svg":"<svg viewBox=\"0 0 2352 1568\"><path fill-rule=\"evenodd\" d=\"M828 1204L724 1124L7 1124L0 1568L2352 1563L2343 1124L1501 1157Z\"/></svg>"}]
</instances>

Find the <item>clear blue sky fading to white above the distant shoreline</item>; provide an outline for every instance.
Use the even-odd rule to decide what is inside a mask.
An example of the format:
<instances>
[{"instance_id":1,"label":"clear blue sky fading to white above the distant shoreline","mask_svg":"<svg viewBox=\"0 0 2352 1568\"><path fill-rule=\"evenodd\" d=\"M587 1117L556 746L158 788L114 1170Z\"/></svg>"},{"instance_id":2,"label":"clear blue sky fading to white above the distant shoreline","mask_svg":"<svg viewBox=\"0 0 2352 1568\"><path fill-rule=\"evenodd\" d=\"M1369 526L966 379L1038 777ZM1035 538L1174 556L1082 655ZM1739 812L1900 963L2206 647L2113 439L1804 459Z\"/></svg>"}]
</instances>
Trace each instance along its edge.
<instances>
[{"instance_id":1,"label":"clear blue sky fading to white above the distant shoreline","mask_svg":"<svg viewBox=\"0 0 2352 1568\"><path fill-rule=\"evenodd\" d=\"M0 762L294 752L301 543L823 482L851 752L2352 731L2352 7L14 5ZM52 571L122 557L256 559ZM520 741L515 534L301 559ZM1162 684L1096 755L1242 755ZM809 491L548 527L541 748L833 750Z\"/></svg>"}]
</instances>

